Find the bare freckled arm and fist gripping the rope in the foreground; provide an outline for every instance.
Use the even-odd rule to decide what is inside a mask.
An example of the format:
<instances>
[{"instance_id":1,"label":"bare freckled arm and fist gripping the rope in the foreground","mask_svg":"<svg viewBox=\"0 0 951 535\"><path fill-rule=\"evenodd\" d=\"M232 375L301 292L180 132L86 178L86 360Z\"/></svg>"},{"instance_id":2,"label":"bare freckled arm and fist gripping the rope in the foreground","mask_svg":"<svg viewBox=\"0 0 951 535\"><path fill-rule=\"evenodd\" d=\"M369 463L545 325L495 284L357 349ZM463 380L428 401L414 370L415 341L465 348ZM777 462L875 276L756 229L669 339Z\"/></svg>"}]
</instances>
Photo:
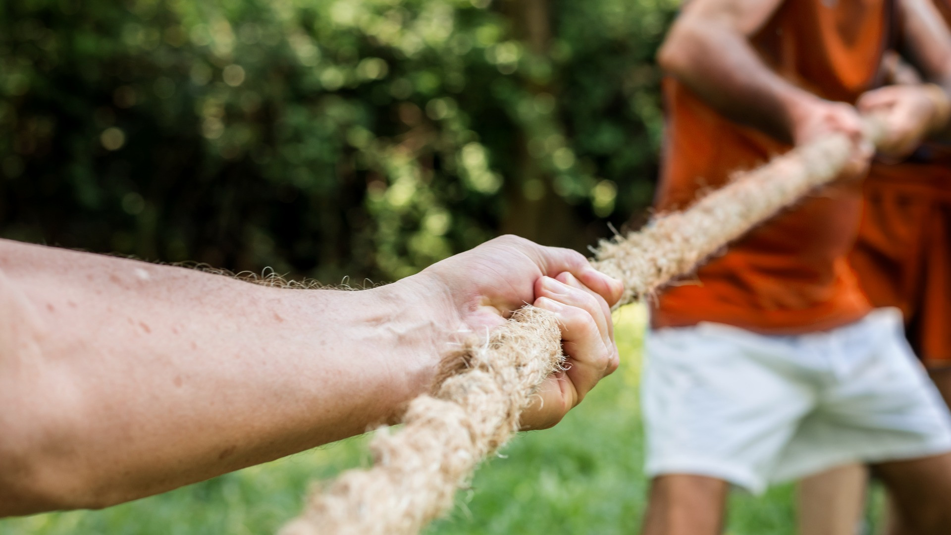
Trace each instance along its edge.
<instances>
[{"instance_id":1,"label":"bare freckled arm and fist gripping the rope in the foreground","mask_svg":"<svg viewBox=\"0 0 951 535\"><path fill-rule=\"evenodd\" d=\"M0 516L125 502L391 421L460 330L526 302L573 328L575 371L523 420L553 425L617 366L619 295L580 254L511 237L363 291L0 240Z\"/></svg>"}]
</instances>

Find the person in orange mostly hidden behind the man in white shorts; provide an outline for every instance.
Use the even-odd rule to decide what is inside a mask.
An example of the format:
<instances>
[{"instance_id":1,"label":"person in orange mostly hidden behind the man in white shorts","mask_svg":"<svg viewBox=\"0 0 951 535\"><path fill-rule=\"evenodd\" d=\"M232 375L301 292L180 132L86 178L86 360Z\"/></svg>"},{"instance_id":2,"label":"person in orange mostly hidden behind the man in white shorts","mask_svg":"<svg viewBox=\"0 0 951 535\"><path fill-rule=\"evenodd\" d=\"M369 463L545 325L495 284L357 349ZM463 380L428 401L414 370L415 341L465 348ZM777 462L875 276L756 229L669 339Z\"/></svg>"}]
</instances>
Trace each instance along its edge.
<instances>
[{"instance_id":1,"label":"person in orange mostly hidden behind the man in white shorts","mask_svg":"<svg viewBox=\"0 0 951 535\"><path fill-rule=\"evenodd\" d=\"M934 3L951 26L951 0ZM883 69L892 85L923 83L898 52L886 54ZM867 93L859 107L873 109L883 91ZM951 143L930 141L904 160L873 161L849 263L874 307L902 310L908 343L951 406ZM807 478L800 485L800 518L812 532L854 533L867 477L865 466L856 464ZM907 532L900 514L888 517L887 532Z\"/></svg>"}]
</instances>

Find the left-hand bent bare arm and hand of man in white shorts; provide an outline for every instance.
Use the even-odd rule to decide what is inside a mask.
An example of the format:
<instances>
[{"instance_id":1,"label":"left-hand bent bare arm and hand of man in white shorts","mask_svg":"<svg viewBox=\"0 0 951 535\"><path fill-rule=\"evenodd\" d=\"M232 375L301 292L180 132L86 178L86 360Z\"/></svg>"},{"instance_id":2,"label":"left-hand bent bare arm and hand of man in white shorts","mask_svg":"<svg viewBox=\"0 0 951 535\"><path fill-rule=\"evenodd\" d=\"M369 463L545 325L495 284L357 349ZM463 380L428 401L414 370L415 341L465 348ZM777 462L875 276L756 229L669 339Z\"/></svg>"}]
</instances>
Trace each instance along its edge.
<instances>
[{"instance_id":1,"label":"left-hand bent bare arm and hand of man in white shorts","mask_svg":"<svg viewBox=\"0 0 951 535\"><path fill-rule=\"evenodd\" d=\"M770 70L749 37L784 0L692 0L670 29L663 69L728 119L795 145L842 133L855 150L842 178L860 176L873 149L858 111L796 87Z\"/></svg>"}]
</instances>

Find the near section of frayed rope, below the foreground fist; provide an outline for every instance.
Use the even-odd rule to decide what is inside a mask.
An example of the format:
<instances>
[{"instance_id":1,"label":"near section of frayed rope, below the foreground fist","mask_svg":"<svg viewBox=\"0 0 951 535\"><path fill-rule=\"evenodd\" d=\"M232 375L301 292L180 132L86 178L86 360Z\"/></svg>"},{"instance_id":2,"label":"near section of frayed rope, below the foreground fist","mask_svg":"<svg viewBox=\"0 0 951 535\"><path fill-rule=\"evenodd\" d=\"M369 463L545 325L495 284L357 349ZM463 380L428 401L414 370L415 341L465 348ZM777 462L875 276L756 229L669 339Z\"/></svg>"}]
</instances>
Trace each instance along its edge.
<instances>
[{"instance_id":1,"label":"near section of frayed rope, below the foreground fist","mask_svg":"<svg viewBox=\"0 0 951 535\"><path fill-rule=\"evenodd\" d=\"M483 457L518 428L534 389L561 367L552 313L523 307L488 341L469 342L432 396L413 400L397 433L378 433L374 466L349 470L310 499L282 535L417 533L453 505Z\"/></svg>"}]
</instances>

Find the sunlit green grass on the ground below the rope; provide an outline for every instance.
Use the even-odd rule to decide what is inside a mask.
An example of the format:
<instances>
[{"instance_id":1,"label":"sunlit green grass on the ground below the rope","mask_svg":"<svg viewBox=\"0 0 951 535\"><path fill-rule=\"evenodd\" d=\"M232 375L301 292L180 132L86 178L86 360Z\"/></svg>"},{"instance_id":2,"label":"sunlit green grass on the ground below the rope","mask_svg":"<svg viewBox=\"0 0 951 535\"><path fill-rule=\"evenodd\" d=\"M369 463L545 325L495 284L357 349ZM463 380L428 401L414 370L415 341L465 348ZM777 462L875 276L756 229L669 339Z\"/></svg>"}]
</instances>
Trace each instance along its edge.
<instances>
[{"instance_id":1,"label":"sunlit green grass on the ground below the rope","mask_svg":"<svg viewBox=\"0 0 951 535\"><path fill-rule=\"evenodd\" d=\"M637 391L645 313L626 307L615 321L617 372L561 424L523 433L482 466L427 535L637 533L648 485ZM102 511L0 521L0 534L273 533L299 510L313 479L365 466L365 445L357 437ZM734 493L728 534L792 535L791 497L789 485L763 497Z\"/></svg>"}]
</instances>

